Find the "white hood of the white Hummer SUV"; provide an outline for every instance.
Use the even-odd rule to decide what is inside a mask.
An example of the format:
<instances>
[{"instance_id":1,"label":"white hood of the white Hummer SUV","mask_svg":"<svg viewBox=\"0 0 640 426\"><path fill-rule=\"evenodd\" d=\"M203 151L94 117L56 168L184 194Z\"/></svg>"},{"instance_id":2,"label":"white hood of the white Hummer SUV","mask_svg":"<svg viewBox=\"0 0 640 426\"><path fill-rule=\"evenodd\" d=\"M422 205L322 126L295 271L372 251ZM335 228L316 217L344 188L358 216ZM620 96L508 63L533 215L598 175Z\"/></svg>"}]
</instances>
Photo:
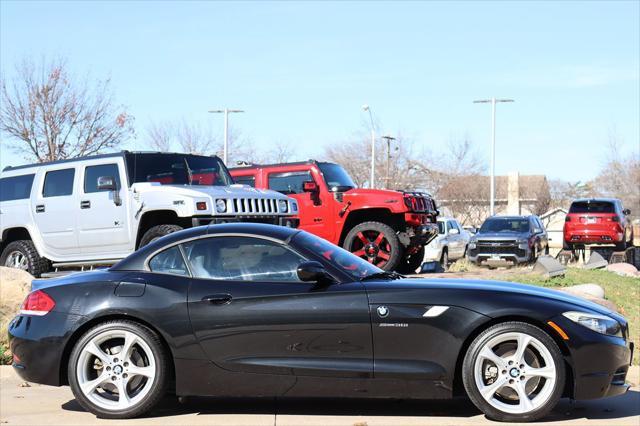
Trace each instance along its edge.
<instances>
[{"instance_id":1,"label":"white hood of the white Hummer SUV","mask_svg":"<svg viewBox=\"0 0 640 426\"><path fill-rule=\"evenodd\" d=\"M153 183L136 183L132 185L136 192L167 192L185 197L253 197L253 198L275 198L286 200L287 197L279 192L270 189L256 189L249 185L233 184L230 186L212 185L160 185Z\"/></svg>"}]
</instances>

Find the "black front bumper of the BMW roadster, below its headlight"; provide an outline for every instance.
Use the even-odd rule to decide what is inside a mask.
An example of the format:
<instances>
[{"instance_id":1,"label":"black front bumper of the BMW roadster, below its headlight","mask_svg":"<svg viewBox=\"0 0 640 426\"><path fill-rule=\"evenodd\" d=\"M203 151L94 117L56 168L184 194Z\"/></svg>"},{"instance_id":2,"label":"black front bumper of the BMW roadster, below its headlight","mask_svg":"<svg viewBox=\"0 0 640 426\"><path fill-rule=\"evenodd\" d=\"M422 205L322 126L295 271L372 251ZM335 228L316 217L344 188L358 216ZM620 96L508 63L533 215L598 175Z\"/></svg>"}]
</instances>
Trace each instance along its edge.
<instances>
[{"instance_id":1,"label":"black front bumper of the BMW roadster, below its headlight","mask_svg":"<svg viewBox=\"0 0 640 426\"><path fill-rule=\"evenodd\" d=\"M573 369L574 399L606 398L629 390L626 376L633 356L632 342L596 333L563 316L552 321L569 335L567 361Z\"/></svg>"}]
</instances>

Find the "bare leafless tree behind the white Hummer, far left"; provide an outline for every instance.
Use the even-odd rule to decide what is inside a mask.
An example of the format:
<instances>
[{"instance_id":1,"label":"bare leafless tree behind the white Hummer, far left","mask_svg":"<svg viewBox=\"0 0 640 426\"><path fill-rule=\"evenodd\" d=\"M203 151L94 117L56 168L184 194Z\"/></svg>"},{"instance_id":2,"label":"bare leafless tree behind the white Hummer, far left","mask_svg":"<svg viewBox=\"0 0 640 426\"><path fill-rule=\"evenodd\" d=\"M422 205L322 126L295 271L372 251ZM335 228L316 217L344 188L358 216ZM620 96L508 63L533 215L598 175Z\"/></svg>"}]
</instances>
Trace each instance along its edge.
<instances>
[{"instance_id":1,"label":"bare leafless tree behind the white Hummer, far left","mask_svg":"<svg viewBox=\"0 0 640 426\"><path fill-rule=\"evenodd\" d=\"M64 60L24 60L11 81L2 78L0 130L28 161L96 154L134 134L133 117L116 106L110 80L75 80Z\"/></svg>"}]
</instances>

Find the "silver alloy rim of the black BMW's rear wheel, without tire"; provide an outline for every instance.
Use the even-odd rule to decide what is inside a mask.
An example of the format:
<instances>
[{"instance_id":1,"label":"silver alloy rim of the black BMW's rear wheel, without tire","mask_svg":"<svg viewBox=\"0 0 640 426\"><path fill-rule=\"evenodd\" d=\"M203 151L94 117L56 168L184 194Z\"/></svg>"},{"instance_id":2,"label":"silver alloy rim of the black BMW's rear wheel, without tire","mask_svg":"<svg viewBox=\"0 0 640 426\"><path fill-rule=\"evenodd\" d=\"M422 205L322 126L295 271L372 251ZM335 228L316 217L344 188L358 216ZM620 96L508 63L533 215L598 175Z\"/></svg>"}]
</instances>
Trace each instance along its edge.
<instances>
[{"instance_id":1,"label":"silver alloy rim of the black BMW's rear wheel, without tire","mask_svg":"<svg viewBox=\"0 0 640 426\"><path fill-rule=\"evenodd\" d=\"M120 411L144 399L156 378L156 359L139 335L109 330L82 348L76 365L80 391L93 404Z\"/></svg>"}]
</instances>

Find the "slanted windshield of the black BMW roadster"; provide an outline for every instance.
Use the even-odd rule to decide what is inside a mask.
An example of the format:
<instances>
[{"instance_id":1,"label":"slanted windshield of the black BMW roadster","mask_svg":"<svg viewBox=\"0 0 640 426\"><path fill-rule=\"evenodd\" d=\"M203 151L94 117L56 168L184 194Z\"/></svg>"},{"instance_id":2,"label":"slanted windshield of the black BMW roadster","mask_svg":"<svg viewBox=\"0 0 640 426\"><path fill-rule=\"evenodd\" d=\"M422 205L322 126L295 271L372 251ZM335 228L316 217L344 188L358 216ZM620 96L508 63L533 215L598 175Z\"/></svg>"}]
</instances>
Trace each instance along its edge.
<instances>
[{"instance_id":1,"label":"slanted windshield of the black BMW roadster","mask_svg":"<svg viewBox=\"0 0 640 426\"><path fill-rule=\"evenodd\" d=\"M346 272L354 279L359 280L366 276L382 272L382 269L372 265L366 260L308 232L300 231L293 238L293 242L301 245L310 252L320 254L326 261Z\"/></svg>"}]
</instances>

